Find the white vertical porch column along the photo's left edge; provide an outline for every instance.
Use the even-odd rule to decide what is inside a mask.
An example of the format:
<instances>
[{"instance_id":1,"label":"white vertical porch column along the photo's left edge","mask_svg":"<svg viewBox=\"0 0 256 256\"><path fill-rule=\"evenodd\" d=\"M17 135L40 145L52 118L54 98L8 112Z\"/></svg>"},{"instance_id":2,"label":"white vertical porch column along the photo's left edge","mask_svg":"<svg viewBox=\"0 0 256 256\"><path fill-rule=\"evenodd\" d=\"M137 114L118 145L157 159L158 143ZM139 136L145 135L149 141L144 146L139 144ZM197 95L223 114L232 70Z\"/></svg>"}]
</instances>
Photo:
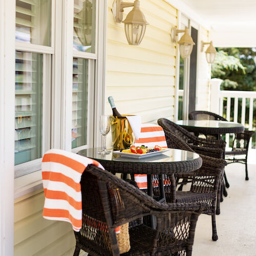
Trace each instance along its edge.
<instances>
[{"instance_id":1,"label":"white vertical porch column along the photo's left edge","mask_svg":"<svg viewBox=\"0 0 256 256\"><path fill-rule=\"evenodd\" d=\"M0 1L0 255L13 255L15 1Z\"/></svg>"}]
</instances>

